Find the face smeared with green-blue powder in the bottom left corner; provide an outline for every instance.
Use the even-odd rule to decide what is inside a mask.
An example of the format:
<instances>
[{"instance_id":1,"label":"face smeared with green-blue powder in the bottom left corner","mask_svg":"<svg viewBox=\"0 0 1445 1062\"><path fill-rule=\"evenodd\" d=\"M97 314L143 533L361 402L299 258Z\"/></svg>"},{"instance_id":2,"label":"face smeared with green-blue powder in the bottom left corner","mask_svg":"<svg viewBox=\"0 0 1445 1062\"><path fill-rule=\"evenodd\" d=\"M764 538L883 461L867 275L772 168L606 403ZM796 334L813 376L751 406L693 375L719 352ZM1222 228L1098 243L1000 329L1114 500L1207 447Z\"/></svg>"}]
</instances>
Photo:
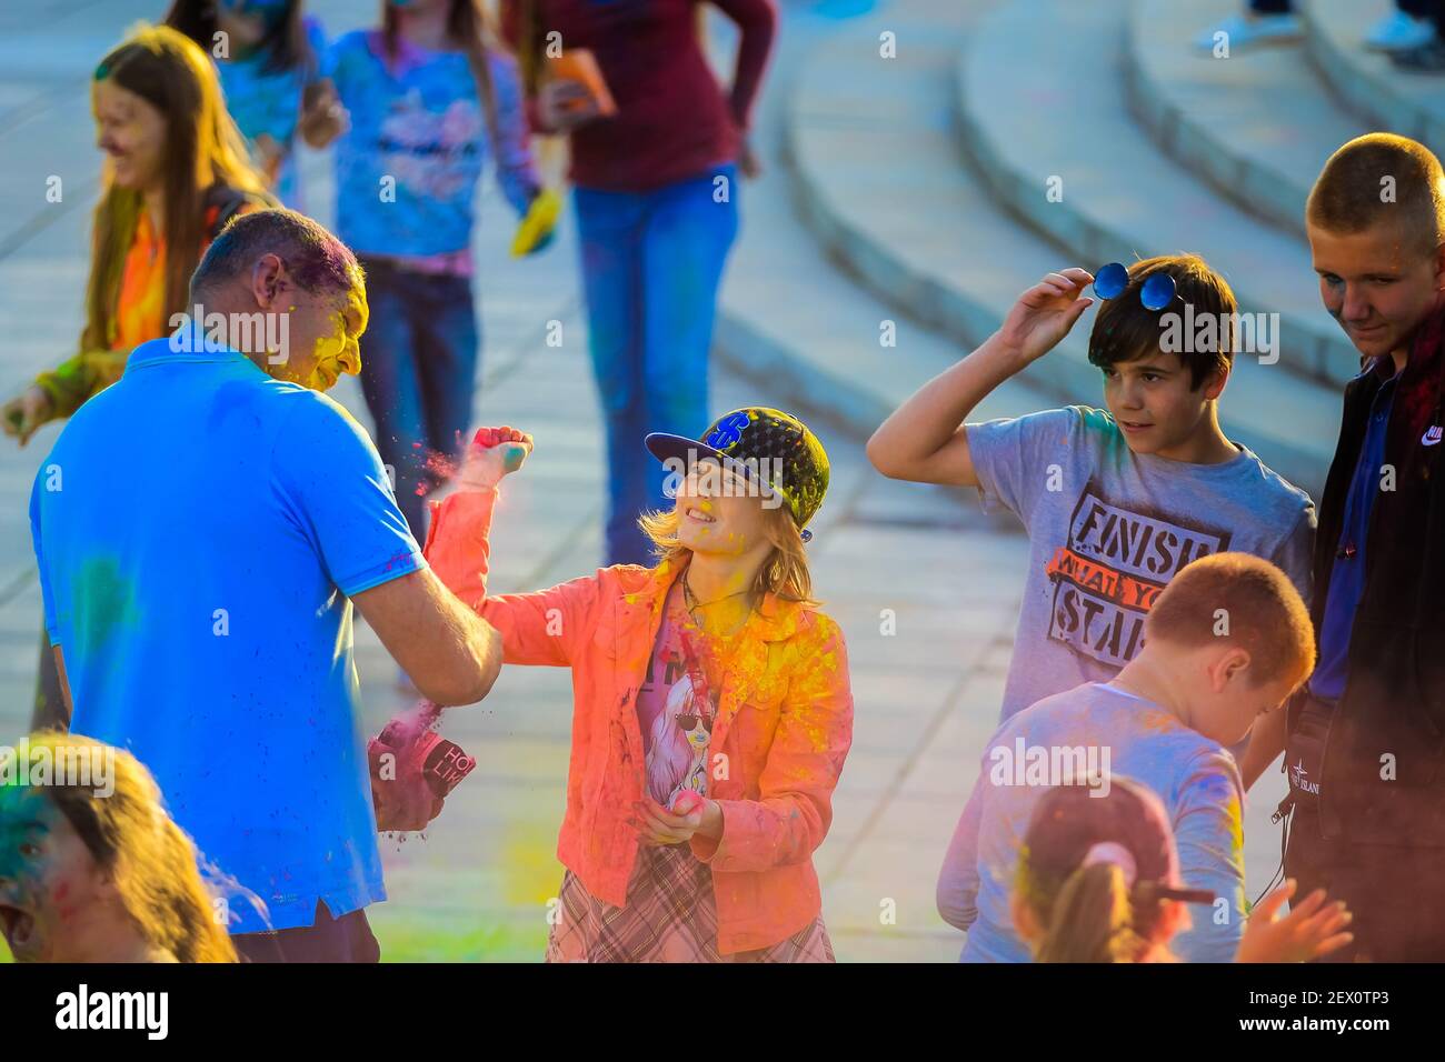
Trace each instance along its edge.
<instances>
[{"instance_id":1,"label":"face smeared with green-blue powder in the bottom left corner","mask_svg":"<svg viewBox=\"0 0 1445 1062\"><path fill-rule=\"evenodd\" d=\"M0 931L16 961L71 961L103 890L104 874L45 790L0 786Z\"/></svg>"}]
</instances>

